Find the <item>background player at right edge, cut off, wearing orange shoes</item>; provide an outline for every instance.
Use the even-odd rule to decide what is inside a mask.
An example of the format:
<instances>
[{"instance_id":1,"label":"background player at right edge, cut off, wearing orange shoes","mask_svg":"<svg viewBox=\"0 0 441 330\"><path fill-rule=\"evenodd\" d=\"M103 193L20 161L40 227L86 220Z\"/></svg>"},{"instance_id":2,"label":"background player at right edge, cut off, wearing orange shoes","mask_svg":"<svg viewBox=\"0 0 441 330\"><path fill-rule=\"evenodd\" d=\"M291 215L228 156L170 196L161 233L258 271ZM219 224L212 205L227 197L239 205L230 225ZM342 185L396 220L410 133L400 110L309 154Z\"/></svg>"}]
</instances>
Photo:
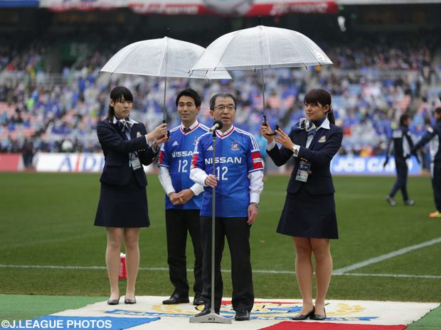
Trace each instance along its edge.
<instances>
[{"instance_id":1,"label":"background player at right edge, cut off, wearing orange shoes","mask_svg":"<svg viewBox=\"0 0 441 330\"><path fill-rule=\"evenodd\" d=\"M435 109L436 123L427 128L427 132L420 141L416 143L410 153L415 155L416 151L429 142L430 146L430 177L432 178L433 197L437 210L429 214L430 218L441 218L441 108Z\"/></svg>"}]
</instances>

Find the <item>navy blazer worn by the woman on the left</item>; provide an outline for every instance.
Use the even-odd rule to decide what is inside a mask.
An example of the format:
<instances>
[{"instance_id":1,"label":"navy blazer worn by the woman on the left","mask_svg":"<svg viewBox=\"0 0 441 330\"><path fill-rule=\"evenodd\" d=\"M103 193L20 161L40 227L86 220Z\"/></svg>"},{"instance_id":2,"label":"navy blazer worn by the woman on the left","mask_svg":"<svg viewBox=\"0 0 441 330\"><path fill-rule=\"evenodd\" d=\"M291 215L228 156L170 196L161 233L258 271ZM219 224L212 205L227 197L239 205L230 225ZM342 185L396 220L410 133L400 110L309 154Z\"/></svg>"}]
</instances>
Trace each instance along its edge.
<instances>
[{"instance_id":1,"label":"navy blazer worn by the woman on the left","mask_svg":"<svg viewBox=\"0 0 441 330\"><path fill-rule=\"evenodd\" d=\"M132 140L127 141L124 133L118 129L117 124L110 123L107 119L97 124L98 140L104 151L104 169L100 177L101 182L111 185L126 185L132 177L133 169L129 166L129 153L138 152L139 161L143 165L153 163L156 155L153 148L147 144L145 135L146 128L143 123L134 123L132 125ZM139 134L141 134L140 137ZM147 177L144 169L141 167L134 171L139 185L147 186Z\"/></svg>"}]
</instances>

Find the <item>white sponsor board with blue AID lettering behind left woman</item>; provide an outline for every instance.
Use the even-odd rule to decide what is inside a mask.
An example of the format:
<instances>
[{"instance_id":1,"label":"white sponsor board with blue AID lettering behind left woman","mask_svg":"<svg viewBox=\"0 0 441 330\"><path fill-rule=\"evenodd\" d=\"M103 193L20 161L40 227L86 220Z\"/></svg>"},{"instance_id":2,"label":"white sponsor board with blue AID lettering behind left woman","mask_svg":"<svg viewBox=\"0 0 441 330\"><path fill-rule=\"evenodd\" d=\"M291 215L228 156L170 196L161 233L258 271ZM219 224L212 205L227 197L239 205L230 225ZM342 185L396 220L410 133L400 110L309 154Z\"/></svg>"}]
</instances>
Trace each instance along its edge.
<instances>
[{"instance_id":1,"label":"white sponsor board with blue AID lettering behind left woman","mask_svg":"<svg viewBox=\"0 0 441 330\"><path fill-rule=\"evenodd\" d=\"M36 171L102 172L104 163L102 153L39 153L36 160ZM152 169L152 165L144 166L145 172L151 172Z\"/></svg>"}]
</instances>

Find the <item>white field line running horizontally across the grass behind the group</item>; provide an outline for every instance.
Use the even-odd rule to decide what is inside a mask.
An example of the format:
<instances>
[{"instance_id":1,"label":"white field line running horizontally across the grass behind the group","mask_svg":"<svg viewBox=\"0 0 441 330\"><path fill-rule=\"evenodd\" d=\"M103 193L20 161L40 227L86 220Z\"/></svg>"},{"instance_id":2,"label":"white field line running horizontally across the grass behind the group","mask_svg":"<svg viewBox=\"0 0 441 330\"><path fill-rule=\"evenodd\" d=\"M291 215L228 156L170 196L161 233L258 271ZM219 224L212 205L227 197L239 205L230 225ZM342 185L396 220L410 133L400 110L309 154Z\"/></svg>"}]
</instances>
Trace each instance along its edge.
<instances>
[{"instance_id":1,"label":"white field line running horizontally across the grass behind the group","mask_svg":"<svg viewBox=\"0 0 441 330\"><path fill-rule=\"evenodd\" d=\"M81 266L51 266L51 265L0 265L0 268L51 268L51 269L100 269L107 270L105 267L91 266L91 267L81 267ZM139 270L166 270L169 268L139 268ZM192 269L188 269L188 272L192 272ZM231 273L231 270L221 270L223 273ZM295 272L290 272L288 270L253 270L253 273L264 273L264 274L295 274ZM314 273L315 274L315 273ZM432 275L397 275L397 274L332 274L332 275L346 275L346 276L379 276L379 277L415 277L415 278L441 278L441 276Z\"/></svg>"}]
</instances>

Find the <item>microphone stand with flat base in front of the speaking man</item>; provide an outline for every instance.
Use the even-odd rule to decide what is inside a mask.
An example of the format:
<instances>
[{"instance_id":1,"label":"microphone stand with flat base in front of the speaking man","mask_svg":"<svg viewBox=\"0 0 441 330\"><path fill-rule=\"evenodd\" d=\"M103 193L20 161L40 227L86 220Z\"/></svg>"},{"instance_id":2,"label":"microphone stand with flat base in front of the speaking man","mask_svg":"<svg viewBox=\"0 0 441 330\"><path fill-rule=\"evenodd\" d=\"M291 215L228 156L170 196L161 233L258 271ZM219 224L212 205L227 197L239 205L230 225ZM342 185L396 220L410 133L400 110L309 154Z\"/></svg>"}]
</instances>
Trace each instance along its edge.
<instances>
[{"instance_id":1,"label":"microphone stand with flat base in front of the speaking man","mask_svg":"<svg viewBox=\"0 0 441 330\"><path fill-rule=\"evenodd\" d=\"M216 177L216 130L213 131L213 176ZM232 324L231 319L221 317L214 312L214 257L215 257L215 224L216 224L216 187L213 187L213 204L211 212L211 312L203 317L191 317L190 323L223 323Z\"/></svg>"}]
</instances>

